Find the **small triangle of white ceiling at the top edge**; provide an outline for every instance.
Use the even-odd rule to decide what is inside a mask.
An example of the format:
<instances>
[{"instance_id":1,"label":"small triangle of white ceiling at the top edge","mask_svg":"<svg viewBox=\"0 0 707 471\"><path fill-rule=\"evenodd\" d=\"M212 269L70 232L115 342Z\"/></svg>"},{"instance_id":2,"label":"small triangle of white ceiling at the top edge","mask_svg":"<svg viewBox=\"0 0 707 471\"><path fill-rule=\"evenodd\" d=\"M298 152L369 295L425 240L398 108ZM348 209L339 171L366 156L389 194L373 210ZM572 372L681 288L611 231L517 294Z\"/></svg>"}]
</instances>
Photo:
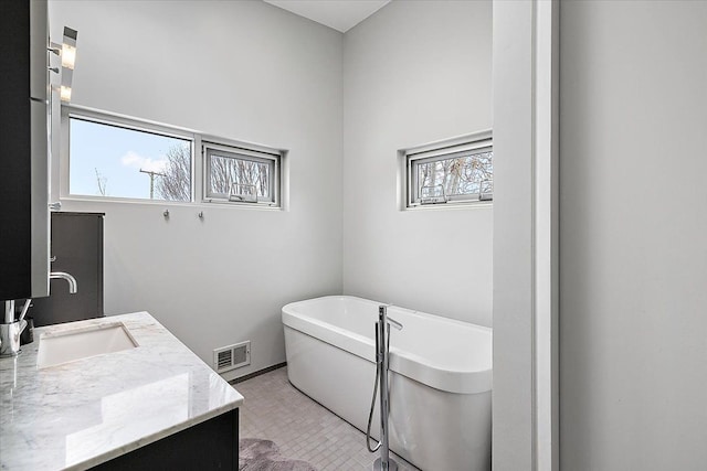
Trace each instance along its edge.
<instances>
[{"instance_id":1,"label":"small triangle of white ceiling at the top edge","mask_svg":"<svg viewBox=\"0 0 707 471\"><path fill-rule=\"evenodd\" d=\"M346 33L390 0L263 0Z\"/></svg>"}]
</instances>

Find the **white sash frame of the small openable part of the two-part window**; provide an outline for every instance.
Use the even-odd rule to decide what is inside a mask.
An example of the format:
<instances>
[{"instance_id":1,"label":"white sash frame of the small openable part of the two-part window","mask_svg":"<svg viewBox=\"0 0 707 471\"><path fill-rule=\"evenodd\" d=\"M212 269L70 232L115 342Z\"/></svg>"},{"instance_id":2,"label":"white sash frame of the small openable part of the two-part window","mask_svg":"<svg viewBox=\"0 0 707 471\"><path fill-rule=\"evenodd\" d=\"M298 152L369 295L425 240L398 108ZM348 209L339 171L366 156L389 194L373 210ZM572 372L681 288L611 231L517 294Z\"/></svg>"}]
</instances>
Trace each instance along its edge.
<instances>
[{"instance_id":1,"label":"white sash frame of the small openable part of the two-part window","mask_svg":"<svg viewBox=\"0 0 707 471\"><path fill-rule=\"evenodd\" d=\"M282 151L266 149L263 147L220 143L212 140L202 141L202 161L203 161L203 201L207 203L231 203L231 204L257 204L263 206L279 207L279 186L281 186L281 160ZM256 202L234 201L229 194L215 193L211 191L211 154L218 153L219 157L232 158L238 160L247 160L251 162L265 163L270 168L268 194L270 197L257 197Z\"/></svg>"}]
</instances>

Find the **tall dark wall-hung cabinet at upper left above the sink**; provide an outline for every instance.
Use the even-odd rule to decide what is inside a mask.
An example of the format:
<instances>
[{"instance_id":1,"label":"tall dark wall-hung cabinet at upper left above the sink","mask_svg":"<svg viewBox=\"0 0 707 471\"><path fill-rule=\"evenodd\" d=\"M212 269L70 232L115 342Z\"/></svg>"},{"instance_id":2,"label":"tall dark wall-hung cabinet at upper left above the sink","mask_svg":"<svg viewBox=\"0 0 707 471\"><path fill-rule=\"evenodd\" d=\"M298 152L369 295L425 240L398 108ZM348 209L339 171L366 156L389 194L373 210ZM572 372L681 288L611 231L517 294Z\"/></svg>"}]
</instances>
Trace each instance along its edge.
<instances>
[{"instance_id":1,"label":"tall dark wall-hung cabinet at upper left above the sink","mask_svg":"<svg viewBox=\"0 0 707 471\"><path fill-rule=\"evenodd\" d=\"M0 2L0 300L46 296L45 0Z\"/></svg>"}]
</instances>

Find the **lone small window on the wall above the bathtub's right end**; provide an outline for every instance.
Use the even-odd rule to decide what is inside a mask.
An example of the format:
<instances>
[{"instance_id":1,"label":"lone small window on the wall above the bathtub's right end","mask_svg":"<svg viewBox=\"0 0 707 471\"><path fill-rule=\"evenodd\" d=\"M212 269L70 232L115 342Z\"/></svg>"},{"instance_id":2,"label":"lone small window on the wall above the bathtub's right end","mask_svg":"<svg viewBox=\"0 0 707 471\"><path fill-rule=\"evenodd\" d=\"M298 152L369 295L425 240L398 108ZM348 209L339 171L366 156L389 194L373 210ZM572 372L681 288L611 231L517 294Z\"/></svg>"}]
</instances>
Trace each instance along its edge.
<instances>
[{"instance_id":1,"label":"lone small window on the wall above the bathtub's right end","mask_svg":"<svg viewBox=\"0 0 707 471\"><path fill-rule=\"evenodd\" d=\"M407 206L493 200L490 132L402 151Z\"/></svg>"}]
</instances>

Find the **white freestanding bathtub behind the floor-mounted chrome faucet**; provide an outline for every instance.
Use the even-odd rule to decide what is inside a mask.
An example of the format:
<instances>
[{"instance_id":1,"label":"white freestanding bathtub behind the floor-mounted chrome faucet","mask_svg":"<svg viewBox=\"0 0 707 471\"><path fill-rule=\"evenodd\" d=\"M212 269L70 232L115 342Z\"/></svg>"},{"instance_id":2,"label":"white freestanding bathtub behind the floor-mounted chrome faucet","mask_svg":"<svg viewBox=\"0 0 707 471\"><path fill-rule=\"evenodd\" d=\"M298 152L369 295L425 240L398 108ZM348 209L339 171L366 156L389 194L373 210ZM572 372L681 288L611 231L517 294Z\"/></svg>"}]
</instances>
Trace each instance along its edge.
<instances>
[{"instance_id":1,"label":"white freestanding bathtub behind the floor-mounted chrome faucet","mask_svg":"<svg viewBox=\"0 0 707 471\"><path fill-rule=\"evenodd\" d=\"M289 382L362 431L379 304L329 296L282 311ZM490 470L492 329L398 307L388 315L403 324L390 335L391 450L428 471Z\"/></svg>"}]
</instances>

